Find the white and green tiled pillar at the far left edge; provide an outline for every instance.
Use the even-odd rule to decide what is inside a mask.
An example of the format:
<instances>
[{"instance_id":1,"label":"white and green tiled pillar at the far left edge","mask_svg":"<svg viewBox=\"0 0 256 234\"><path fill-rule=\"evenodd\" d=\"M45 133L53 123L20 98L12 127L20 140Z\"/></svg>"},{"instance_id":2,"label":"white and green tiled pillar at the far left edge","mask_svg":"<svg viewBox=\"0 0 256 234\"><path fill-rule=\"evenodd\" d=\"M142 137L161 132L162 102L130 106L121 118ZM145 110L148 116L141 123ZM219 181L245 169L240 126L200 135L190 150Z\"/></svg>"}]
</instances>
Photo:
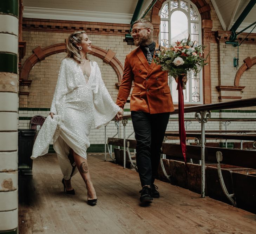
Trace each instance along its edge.
<instances>
[{"instance_id":1,"label":"white and green tiled pillar at the far left edge","mask_svg":"<svg viewBox=\"0 0 256 234\"><path fill-rule=\"evenodd\" d=\"M0 233L18 233L18 0L0 1Z\"/></svg>"}]
</instances>

